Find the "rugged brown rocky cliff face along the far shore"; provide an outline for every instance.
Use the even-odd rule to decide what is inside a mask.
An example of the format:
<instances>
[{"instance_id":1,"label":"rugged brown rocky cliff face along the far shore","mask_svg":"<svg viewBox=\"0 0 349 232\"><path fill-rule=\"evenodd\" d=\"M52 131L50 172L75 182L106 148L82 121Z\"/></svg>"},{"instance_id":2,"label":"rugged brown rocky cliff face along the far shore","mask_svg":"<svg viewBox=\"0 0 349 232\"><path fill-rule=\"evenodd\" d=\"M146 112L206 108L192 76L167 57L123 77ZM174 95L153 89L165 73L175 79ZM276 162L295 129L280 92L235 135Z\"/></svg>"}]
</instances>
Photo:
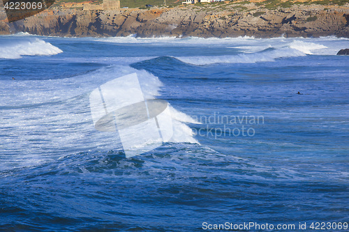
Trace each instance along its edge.
<instances>
[{"instance_id":1,"label":"rugged brown rocky cliff face along the far shore","mask_svg":"<svg viewBox=\"0 0 349 232\"><path fill-rule=\"evenodd\" d=\"M253 3L251 3L253 5ZM0 15L0 20L3 15ZM251 8L162 8L157 10L45 10L6 24L1 33L29 32L43 36L198 36L260 38L339 36L349 38L349 6Z\"/></svg>"}]
</instances>

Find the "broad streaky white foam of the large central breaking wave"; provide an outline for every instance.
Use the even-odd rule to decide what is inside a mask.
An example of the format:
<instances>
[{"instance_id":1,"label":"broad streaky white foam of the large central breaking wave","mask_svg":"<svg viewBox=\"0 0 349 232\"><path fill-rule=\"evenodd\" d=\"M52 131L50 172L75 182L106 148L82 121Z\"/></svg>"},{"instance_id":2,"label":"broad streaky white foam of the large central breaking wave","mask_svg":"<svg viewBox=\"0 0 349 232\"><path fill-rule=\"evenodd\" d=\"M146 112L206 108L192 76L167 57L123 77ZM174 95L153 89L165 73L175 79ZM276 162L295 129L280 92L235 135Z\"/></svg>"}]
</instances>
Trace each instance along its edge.
<instances>
[{"instance_id":1,"label":"broad streaky white foam of the large central breaking wave","mask_svg":"<svg viewBox=\"0 0 349 232\"><path fill-rule=\"evenodd\" d=\"M101 84L133 72L138 74L144 98L161 99L163 84L158 77L129 66L112 65L66 79L0 80L0 109L6 109L1 111L0 127L4 128L3 133L9 134L1 138L1 150L8 155L31 155L33 159L29 160L36 163L46 160L40 155L43 150L50 154L47 158L52 158L54 154L73 152L75 148L79 148L79 152L120 149L117 133L94 129L89 93ZM174 135L170 141L196 143L193 131L183 123L190 121L190 117L174 109L172 112Z\"/></svg>"}]
</instances>

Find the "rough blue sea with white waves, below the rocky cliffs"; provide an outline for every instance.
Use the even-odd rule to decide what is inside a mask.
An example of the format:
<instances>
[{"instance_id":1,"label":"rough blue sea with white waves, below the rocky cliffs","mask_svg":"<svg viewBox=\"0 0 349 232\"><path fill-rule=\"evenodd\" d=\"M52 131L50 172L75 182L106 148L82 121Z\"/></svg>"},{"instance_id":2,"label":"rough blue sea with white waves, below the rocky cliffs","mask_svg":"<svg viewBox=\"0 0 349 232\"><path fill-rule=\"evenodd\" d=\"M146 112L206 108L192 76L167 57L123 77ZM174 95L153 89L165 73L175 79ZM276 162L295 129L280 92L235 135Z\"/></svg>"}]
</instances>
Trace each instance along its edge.
<instances>
[{"instance_id":1,"label":"rough blue sea with white waves, below the rocky cliffs","mask_svg":"<svg viewBox=\"0 0 349 232\"><path fill-rule=\"evenodd\" d=\"M1 36L0 231L348 223L348 45ZM170 102L174 137L126 159L89 94L133 72Z\"/></svg>"}]
</instances>

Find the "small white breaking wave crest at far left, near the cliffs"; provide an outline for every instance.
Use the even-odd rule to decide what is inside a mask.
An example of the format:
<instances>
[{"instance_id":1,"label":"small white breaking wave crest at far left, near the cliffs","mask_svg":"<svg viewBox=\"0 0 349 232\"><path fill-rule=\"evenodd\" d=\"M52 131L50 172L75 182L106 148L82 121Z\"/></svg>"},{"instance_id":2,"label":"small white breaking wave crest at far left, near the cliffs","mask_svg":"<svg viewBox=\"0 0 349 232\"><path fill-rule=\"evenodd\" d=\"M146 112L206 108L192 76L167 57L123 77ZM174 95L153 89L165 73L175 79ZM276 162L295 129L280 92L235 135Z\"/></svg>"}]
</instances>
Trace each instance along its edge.
<instances>
[{"instance_id":1,"label":"small white breaking wave crest at far left, near the cliffs","mask_svg":"<svg viewBox=\"0 0 349 232\"><path fill-rule=\"evenodd\" d=\"M1 41L1 40L0 40ZM0 59L20 59L22 56L48 56L63 52L58 47L38 38L15 38L0 43Z\"/></svg>"}]
</instances>

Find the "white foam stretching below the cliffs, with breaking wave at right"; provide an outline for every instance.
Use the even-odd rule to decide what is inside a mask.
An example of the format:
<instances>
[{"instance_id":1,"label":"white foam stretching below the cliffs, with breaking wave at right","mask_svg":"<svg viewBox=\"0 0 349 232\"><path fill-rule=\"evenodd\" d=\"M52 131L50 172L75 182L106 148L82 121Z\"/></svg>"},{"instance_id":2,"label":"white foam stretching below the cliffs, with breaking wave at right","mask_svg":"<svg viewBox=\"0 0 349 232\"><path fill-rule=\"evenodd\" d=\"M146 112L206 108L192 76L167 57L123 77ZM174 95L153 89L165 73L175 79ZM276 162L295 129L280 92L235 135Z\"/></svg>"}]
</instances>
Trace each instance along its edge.
<instances>
[{"instance_id":1,"label":"white foam stretching below the cliffs, with breaking wave at right","mask_svg":"<svg viewBox=\"0 0 349 232\"><path fill-rule=\"evenodd\" d=\"M272 62L276 59L306 56L306 55L335 55L346 47L348 38L333 36L323 38L137 38L135 35L115 38L89 38L99 42L115 44L147 44L151 46L180 46L180 47L225 47L232 49L231 55L224 56L175 56L185 63L193 65L210 65L214 63L257 63Z\"/></svg>"}]
</instances>

